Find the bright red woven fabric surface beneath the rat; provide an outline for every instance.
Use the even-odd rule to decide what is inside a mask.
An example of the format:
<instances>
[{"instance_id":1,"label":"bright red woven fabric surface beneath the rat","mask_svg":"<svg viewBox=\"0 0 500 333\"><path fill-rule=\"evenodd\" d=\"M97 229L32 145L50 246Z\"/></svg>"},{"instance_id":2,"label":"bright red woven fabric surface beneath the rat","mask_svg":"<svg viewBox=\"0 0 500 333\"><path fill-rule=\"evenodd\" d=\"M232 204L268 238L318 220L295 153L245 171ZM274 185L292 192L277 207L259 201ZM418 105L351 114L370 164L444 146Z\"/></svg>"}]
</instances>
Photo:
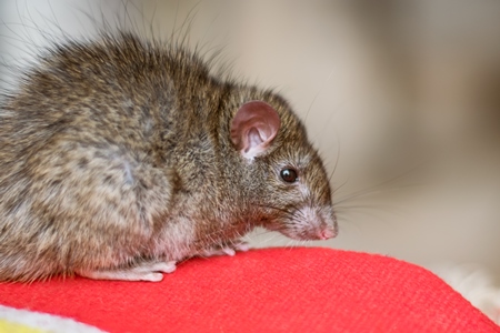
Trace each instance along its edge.
<instances>
[{"instance_id":1,"label":"bright red woven fabric surface beneath the rat","mask_svg":"<svg viewBox=\"0 0 500 333\"><path fill-rule=\"evenodd\" d=\"M329 249L194 259L161 283L0 284L0 303L120 333L500 332L429 271Z\"/></svg>"}]
</instances>

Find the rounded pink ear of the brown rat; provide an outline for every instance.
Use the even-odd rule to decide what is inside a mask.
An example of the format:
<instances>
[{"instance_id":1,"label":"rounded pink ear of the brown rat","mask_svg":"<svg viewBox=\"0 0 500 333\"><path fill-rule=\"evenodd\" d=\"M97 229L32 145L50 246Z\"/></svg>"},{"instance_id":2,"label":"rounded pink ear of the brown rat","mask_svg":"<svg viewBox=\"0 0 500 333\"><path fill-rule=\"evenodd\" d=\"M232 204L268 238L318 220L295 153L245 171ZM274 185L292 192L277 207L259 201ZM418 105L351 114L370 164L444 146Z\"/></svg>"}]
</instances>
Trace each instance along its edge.
<instances>
[{"instance_id":1,"label":"rounded pink ear of the brown rat","mask_svg":"<svg viewBox=\"0 0 500 333\"><path fill-rule=\"evenodd\" d=\"M268 149L280 124L278 112L268 103L244 103L232 120L231 141L243 158L252 160Z\"/></svg>"}]
</instances>

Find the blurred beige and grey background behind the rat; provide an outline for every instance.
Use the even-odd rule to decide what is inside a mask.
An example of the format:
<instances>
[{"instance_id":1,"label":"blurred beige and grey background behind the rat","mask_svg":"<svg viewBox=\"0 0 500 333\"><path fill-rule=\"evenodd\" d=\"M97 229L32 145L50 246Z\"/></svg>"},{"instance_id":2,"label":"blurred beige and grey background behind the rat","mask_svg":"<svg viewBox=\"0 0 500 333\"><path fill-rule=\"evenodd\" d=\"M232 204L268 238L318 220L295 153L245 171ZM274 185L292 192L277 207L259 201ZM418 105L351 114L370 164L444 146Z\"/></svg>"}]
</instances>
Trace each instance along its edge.
<instances>
[{"instance_id":1,"label":"blurred beige and grey background behind the rat","mask_svg":"<svg viewBox=\"0 0 500 333\"><path fill-rule=\"evenodd\" d=\"M341 232L309 245L491 286L483 309L500 320L499 1L2 0L0 18L3 88L44 44L99 27L222 48L237 77L291 102L334 169Z\"/></svg>"}]
</instances>

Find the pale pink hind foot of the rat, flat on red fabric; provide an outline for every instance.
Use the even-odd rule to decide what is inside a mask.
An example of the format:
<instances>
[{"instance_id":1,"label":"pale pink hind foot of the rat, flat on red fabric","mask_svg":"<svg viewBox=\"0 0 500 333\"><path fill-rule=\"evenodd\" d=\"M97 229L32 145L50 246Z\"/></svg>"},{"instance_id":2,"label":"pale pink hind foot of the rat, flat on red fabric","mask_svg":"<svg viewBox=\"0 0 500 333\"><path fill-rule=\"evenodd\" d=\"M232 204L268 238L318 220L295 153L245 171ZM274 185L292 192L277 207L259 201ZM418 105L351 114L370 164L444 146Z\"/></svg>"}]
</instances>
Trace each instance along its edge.
<instances>
[{"instance_id":1,"label":"pale pink hind foot of the rat, flat on red fabric","mask_svg":"<svg viewBox=\"0 0 500 333\"><path fill-rule=\"evenodd\" d=\"M163 280L162 273L176 271L176 262L142 262L133 268L102 270L102 271L78 271L77 274L93 280L121 280L121 281L150 281Z\"/></svg>"}]
</instances>

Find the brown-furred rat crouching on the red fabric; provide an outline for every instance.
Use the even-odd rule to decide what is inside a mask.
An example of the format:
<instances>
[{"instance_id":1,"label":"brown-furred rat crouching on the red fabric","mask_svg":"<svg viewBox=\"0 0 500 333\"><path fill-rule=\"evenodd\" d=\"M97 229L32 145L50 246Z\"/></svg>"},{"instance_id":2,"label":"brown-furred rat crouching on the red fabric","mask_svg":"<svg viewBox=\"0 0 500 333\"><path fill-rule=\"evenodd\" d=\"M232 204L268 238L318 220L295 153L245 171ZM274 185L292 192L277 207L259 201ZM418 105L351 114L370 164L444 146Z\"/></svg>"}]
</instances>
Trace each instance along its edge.
<instances>
[{"instance_id":1,"label":"brown-furred rat crouching on the red fabric","mask_svg":"<svg viewBox=\"0 0 500 333\"><path fill-rule=\"evenodd\" d=\"M331 196L290 104L179 43L56 43L0 100L0 281L161 281L257 226L327 240Z\"/></svg>"}]
</instances>

